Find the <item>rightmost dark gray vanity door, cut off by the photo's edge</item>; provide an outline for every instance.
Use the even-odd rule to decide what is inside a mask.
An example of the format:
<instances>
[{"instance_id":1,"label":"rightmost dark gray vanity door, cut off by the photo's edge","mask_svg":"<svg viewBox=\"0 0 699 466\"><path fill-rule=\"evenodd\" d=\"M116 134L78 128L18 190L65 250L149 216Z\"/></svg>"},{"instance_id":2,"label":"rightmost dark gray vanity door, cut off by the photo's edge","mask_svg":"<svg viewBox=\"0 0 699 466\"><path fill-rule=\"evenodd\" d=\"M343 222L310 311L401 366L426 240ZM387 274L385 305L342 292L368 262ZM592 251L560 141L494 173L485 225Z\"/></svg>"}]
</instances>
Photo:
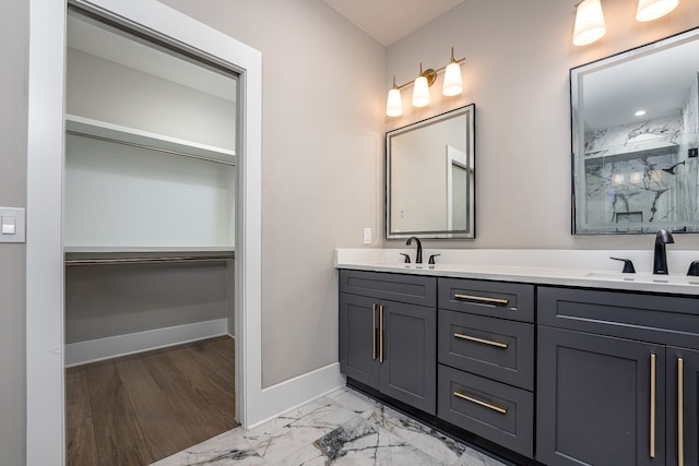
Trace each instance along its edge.
<instances>
[{"instance_id":1,"label":"rightmost dark gray vanity door, cut off by the photo's edge","mask_svg":"<svg viewBox=\"0 0 699 466\"><path fill-rule=\"evenodd\" d=\"M668 347L667 464L671 466L699 464L698 382L699 351Z\"/></svg>"}]
</instances>

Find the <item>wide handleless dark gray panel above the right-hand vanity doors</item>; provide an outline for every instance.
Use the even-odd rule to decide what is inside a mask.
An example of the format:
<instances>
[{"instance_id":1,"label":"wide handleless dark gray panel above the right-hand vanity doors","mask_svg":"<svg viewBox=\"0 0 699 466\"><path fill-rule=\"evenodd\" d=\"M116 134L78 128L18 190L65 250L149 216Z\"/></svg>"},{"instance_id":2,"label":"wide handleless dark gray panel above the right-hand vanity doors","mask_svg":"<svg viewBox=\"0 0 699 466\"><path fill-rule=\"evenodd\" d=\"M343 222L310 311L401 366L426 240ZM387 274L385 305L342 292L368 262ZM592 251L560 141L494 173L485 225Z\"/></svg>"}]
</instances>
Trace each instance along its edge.
<instances>
[{"instance_id":1,"label":"wide handleless dark gray panel above the right-hand vanity doors","mask_svg":"<svg viewBox=\"0 0 699 466\"><path fill-rule=\"evenodd\" d=\"M537 323L699 349L699 298L538 287Z\"/></svg>"}]
</instances>

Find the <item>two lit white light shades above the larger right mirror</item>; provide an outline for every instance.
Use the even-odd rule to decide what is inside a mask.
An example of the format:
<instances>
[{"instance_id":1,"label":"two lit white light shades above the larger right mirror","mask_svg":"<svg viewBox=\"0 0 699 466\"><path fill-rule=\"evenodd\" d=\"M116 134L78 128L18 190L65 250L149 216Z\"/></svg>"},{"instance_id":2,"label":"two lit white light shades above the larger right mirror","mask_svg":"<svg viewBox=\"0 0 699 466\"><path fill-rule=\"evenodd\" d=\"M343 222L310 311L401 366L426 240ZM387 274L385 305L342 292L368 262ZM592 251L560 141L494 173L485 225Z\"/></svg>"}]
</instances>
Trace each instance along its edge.
<instances>
[{"instance_id":1,"label":"two lit white light shades above the larger right mirror","mask_svg":"<svg viewBox=\"0 0 699 466\"><path fill-rule=\"evenodd\" d=\"M673 11L679 0L639 0L636 20L645 22L662 17ZM583 0L576 4L576 26L572 43L585 46L600 39L606 33L601 0Z\"/></svg>"}]
</instances>

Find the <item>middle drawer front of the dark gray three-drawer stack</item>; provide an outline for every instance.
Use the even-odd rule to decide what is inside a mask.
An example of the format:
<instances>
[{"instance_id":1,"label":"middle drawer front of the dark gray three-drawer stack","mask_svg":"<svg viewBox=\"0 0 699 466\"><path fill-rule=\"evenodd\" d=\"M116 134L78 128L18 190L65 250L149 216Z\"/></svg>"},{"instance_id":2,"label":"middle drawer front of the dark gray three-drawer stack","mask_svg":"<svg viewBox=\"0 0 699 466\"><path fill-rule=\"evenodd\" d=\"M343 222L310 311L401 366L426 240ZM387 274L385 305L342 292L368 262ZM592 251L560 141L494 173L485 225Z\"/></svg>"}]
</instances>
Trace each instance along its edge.
<instances>
[{"instance_id":1,"label":"middle drawer front of the dark gray three-drawer stack","mask_svg":"<svg viewBox=\"0 0 699 466\"><path fill-rule=\"evenodd\" d=\"M534 325L439 310L439 362L534 389Z\"/></svg>"}]
</instances>

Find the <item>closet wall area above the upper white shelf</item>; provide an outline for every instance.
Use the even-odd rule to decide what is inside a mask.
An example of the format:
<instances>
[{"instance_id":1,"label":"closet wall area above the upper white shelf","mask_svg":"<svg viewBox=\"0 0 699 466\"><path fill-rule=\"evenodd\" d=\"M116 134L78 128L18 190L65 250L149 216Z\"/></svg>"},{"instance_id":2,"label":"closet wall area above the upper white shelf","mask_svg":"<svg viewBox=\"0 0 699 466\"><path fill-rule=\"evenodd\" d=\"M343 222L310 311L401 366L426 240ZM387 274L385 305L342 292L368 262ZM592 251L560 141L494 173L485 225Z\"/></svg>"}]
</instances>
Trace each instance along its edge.
<instances>
[{"instance_id":1,"label":"closet wall area above the upper white shelf","mask_svg":"<svg viewBox=\"0 0 699 466\"><path fill-rule=\"evenodd\" d=\"M67 60L68 113L235 150L234 101L73 48Z\"/></svg>"}]
</instances>

